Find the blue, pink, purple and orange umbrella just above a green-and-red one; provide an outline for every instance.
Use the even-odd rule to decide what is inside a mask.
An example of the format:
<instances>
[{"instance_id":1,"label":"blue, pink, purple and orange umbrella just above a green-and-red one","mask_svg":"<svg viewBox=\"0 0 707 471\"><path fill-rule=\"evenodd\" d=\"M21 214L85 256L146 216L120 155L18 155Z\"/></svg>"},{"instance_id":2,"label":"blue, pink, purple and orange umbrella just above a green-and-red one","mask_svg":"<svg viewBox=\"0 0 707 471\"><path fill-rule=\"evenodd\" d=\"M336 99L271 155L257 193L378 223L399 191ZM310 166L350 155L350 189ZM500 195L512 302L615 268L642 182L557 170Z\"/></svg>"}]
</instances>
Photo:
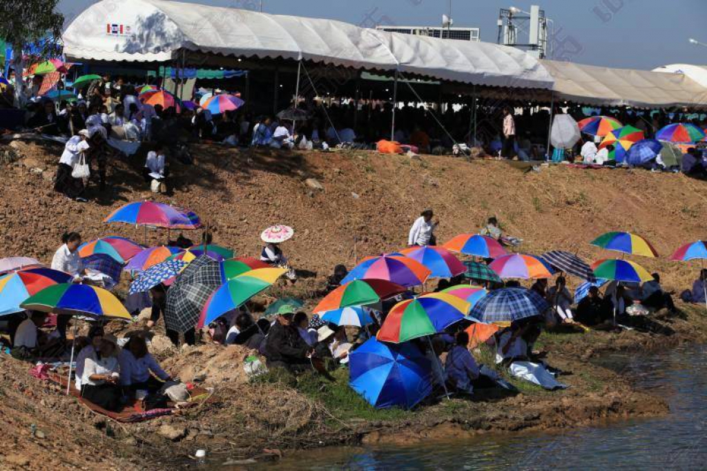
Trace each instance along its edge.
<instances>
[{"instance_id":1,"label":"blue, pink, purple and orange umbrella just above a green-and-red one","mask_svg":"<svg viewBox=\"0 0 707 471\"><path fill-rule=\"evenodd\" d=\"M419 261L404 256L378 256L364 258L342 280L388 280L405 287L419 286L427 281L431 270Z\"/></svg>"}]
</instances>

